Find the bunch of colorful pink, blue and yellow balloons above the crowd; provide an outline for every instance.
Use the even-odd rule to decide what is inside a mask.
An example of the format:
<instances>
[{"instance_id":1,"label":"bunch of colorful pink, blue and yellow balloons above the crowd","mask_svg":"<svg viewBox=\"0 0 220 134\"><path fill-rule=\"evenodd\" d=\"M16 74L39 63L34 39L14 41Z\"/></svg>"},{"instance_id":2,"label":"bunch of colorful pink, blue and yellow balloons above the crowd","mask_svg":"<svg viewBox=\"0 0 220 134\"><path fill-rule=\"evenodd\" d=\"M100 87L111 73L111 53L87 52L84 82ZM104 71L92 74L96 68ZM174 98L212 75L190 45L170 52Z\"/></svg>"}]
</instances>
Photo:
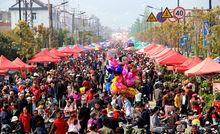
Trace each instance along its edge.
<instances>
[{"instance_id":1,"label":"bunch of colorful pink, blue and yellow balloons above the crowd","mask_svg":"<svg viewBox=\"0 0 220 134\"><path fill-rule=\"evenodd\" d=\"M140 82L138 77L140 68L132 64L125 64L122 67L117 60L111 60L106 69L115 76L111 84L112 94L125 94L133 97L138 93L136 87Z\"/></svg>"}]
</instances>

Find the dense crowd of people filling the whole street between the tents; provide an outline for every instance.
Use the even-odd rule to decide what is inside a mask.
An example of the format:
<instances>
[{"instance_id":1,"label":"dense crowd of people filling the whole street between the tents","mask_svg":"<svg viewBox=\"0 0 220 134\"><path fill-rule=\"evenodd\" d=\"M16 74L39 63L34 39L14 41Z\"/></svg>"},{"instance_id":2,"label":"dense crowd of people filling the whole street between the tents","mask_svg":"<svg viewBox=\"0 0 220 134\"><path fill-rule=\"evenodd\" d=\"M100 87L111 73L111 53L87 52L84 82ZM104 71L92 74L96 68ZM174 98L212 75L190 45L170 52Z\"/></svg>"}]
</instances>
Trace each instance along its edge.
<instances>
[{"instance_id":1,"label":"dense crowd of people filling the whole street between the tents","mask_svg":"<svg viewBox=\"0 0 220 134\"><path fill-rule=\"evenodd\" d=\"M129 57L129 58L128 58ZM164 78L153 59L120 51L112 57L138 66L138 93L106 88L106 51L41 64L32 73L4 76L0 83L2 134L203 134L219 133L220 107L198 95L195 81ZM154 104L155 102L155 104Z\"/></svg>"}]
</instances>

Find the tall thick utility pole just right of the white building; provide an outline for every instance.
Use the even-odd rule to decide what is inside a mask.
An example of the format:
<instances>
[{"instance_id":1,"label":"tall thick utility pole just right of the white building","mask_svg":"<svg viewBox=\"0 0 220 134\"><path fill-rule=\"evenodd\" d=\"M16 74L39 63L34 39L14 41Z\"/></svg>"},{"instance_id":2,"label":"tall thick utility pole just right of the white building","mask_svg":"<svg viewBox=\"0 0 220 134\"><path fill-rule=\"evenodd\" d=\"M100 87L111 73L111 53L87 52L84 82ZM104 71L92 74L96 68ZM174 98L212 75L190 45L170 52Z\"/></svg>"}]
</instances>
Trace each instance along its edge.
<instances>
[{"instance_id":1,"label":"tall thick utility pole just right of the white building","mask_svg":"<svg viewBox=\"0 0 220 134\"><path fill-rule=\"evenodd\" d=\"M49 30L50 30L48 48L51 48L52 36L53 36L53 16L52 16L52 5L50 4L50 0L48 0L48 13L49 13Z\"/></svg>"}]
</instances>

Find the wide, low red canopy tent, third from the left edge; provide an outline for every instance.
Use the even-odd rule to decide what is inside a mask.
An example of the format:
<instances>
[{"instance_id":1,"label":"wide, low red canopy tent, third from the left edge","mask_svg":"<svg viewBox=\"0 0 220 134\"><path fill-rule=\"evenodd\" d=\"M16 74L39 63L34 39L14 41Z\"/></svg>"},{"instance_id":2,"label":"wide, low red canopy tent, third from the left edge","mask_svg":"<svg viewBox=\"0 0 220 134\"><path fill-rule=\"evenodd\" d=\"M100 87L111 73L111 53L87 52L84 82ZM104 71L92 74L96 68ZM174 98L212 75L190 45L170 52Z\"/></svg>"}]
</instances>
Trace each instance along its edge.
<instances>
[{"instance_id":1,"label":"wide, low red canopy tent, third from the left edge","mask_svg":"<svg viewBox=\"0 0 220 134\"><path fill-rule=\"evenodd\" d=\"M49 55L43 55L43 56L38 56L34 57L31 60L29 60L29 63L36 63L36 62L59 62L61 61L60 58L52 58Z\"/></svg>"}]
</instances>

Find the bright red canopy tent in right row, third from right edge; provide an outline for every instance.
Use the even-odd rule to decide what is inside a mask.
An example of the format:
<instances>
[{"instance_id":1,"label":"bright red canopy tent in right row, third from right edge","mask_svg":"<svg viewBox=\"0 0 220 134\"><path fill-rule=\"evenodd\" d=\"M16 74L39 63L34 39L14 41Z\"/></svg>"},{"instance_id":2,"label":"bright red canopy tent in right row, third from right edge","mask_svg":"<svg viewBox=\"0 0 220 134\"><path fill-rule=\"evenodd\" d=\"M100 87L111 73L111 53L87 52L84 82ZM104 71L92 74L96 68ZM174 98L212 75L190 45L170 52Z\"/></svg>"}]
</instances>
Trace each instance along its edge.
<instances>
[{"instance_id":1,"label":"bright red canopy tent in right row, third from right edge","mask_svg":"<svg viewBox=\"0 0 220 134\"><path fill-rule=\"evenodd\" d=\"M183 62L185 62L186 60L187 60L187 58L185 56L176 52L176 53L158 61L158 63L160 65L178 65L178 64L183 64Z\"/></svg>"}]
</instances>

